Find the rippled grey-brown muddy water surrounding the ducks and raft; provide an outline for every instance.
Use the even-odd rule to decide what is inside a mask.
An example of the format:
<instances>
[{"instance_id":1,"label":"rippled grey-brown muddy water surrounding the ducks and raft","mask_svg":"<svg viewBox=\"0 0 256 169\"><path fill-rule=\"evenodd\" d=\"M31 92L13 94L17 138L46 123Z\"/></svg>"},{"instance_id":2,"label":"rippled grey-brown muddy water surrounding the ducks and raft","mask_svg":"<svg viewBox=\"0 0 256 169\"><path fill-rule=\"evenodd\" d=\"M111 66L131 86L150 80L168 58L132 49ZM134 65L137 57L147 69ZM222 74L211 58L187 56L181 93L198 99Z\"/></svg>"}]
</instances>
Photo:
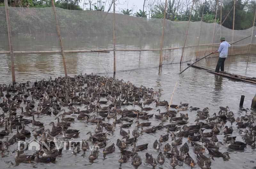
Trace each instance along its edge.
<instances>
[{"instance_id":1,"label":"rippled grey-brown muddy water surrounding the ducks and raft","mask_svg":"<svg viewBox=\"0 0 256 169\"><path fill-rule=\"evenodd\" d=\"M2 37L6 39L6 37ZM35 37L35 39L24 39L20 37L14 37L15 46L14 49L17 50L59 50L58 41L56 38L52 39L42 39ZM88 40L90 39L90 40ZM103 39L103 40L102 40ZM80 43L77 43L77 41ZM104 49L109 46L112 46L112 42L104 38L87 38L84 40L82 38L76 40L76 43L72 39L65 39L63 44L66 50L76 50L76 49ZM51 43L49 43L49 41ZM42 46L42 42L45 42ZM121 43L122 42L122 43ZM131 42L134 42L133 44ZM171 46L178 46L180 42L172 43ZM182 43L182 42L181 42ZM86 44L86 45L85 45ZM166 46L168 44L165 44ZM85 47L86 46L86 47ZM141 44L139 39L136 38L127 38L120 40L117 43L118 47L123 48L156 48L152 39L146 39L145 44ZM8 50L8 41L3 40L0 42L0 50ZM195 68L189 68L187 71L179 75L180 70L183 70L187 67L186 63L183 64L167 64L172 61L172 58L180 54L180 50L175 51L175 53L167 53L169 57L164 58L164 65L161 69L158 68L158 52L117 52L117 72L116 78L123 79L124 81L131 81L132 84L136 86L146 86L147 88L154 88L158 90L162 88L164 92L162 95L158 95L160 100L170 100L172 95L172 90L176 82L178 85L176 87L172 103L179 104L180 102L188 102L189 105L193 107L199 107L201 110L204 107L210 109L210 116L215 112L219 112L219 106L228 106L231 111L235 114L235 118L238 116L244 116L245 112L241 111L239 108L239 99L241 95L245 95L244 108L249 108L251 105L251 100L255 95L255 85L250 83L244 83L240 81L233 81L225 77L218 75L210 74L203 70L198 70ZM77 54L65 54L67 62L68 75L72 76L75 74L84 74L91 73L99 75L113 76L113 53L77 53ZM172 58L171 58L172 56ZM256 57L254 55L243 55L243 56L232 56L226 60L225 70L235 74L241 74L246 76L256 76ZM60 76L64 74L62 67L62 58L59 54L28 54L28 55L15 55L15 70L16 70L16 79L18 82L25 81L35 81L41 80L42 78L49 79ZM209 58L202 60L199 64L214 68L217 63L218 58ZM11 72L10 72L10 59L7 55L1 55L0 62L0 71L1 71L1 84L9 84L11 81ZM102 98L102 100L105 100ZM24 105L25 106L25 105ZM104 105L102 105L103 107ZM161 109L163 112L164 107L156 107L155 104L151 104L148 107L152 107L153 110L148 111L150 114L156 113L157 109ZM83 106L79 107L83 109ZM138 106L123 106L122 109L140 109ZM67 108L65 108L67 110ZM20 110L17 110L20 112ZM2 114L2 110L0 110ZM189 125L195 124L196 112L184 111L182 113L188 113ZM255 115L256 111L250 109L250 112L247 114ZM28 117L30 118L30 117ZM48 125L49 122L56 122L54 120L55 116L45 116L39 115L36 116L36 120L43 122L45 129L50 128ZM119 116L118 116L119 118ZM113 120L106 120L107 123L111 123ZM143 120L140 120L142 122ZM202 120L204 122L204 120ZM152 118L149 120L153 125L158 125L161 121ZM164 122L168 124L169 122ZM236 123L227 123L228 126L232 126L234 132L232 136L237 136L238 141L243 141L243 134L238 133L236 128ZM31 124L26 126L27 130L32 131L34 126ZM79 129L80 134L76 140L88 139L89 136L86 135L88 131L94 131L94 125L91 123L85 123L84 121L75 120L75 123L71 124L72 129ZM135 129L135 124L132 124L130 130ZM3 130L3 126L0 128ZM127 131L127 129L125 129ZM207 132L210 130L206 130ZM217 135L219 141L223 141L223 128L220 129L220 134ZM12 136L16 132L13 130ZM148 152L152 154L154 158L157 157L159 151L153 149L153 142L159 139L161 134L167 134L165 129L158 130L156 133L147 134L141 133L138 138L137 145L149 143L148 149L146 151L139 152L139 155L142 158L142 165L138 168L152 168L151 165L148 165L145 162L145 154ZM117 138L121 139L119 135L119 127L117 125L116 131L111 133L107 144L112 143L116 144ZM59 135L58 138L62 139ZM5 138L4 138L5 139ZM27 138L26 141L33 139L33 136ZM3 139L1 139L2 141ZM37 138L40 140L40 137ZM171 143L171 140L167 141ZM183 138L183 144L188 142L187 139ZM91 143L90 143L91 144ZM160 147L160 150L163 150L164 142ZM189 143L188 143L189 144ZM91 144L92 145L92 144ZM189 144L190 146L190 144ZM178 146L179 148L180 146ZM7 151L3 151L0 160L1 168L135 168L131 165L131 159L128 163L120 165L118 159L120 156L119 150L116 147L116 151L113 154L108 154L103 156L100 152L99 158L93 163L88 160L89 151L80 152L77 155L74 155L71 151L63 151L62 156L57 157L56 161L51 164L44 163L17 163L14 160L14 154L10 154L14 149L17 148L17 143L8 147ZM129 148L131 150L131 147ZM223 158L215 158L215 161L212 161L211 168L253 168L256 166L256 152L250 146L247 146L244 151L233 151L228 149L227 145L224 144L220 148L221 152L228 151L230 152L230 159L226 161ZM25 151L26 154L33 154L33 151ZM189 153L191 157L196 160L196 155L193 152L193 148L190 146ZM208 151L206 151L208 153ZM166 158L164 165L157 165L155 168L172 168L169 164L169 159ZM190 168L187 164L179 162L179 165L175 168ZM195 168L200 168L198 165Z\"/></svg>"}]
</instances>

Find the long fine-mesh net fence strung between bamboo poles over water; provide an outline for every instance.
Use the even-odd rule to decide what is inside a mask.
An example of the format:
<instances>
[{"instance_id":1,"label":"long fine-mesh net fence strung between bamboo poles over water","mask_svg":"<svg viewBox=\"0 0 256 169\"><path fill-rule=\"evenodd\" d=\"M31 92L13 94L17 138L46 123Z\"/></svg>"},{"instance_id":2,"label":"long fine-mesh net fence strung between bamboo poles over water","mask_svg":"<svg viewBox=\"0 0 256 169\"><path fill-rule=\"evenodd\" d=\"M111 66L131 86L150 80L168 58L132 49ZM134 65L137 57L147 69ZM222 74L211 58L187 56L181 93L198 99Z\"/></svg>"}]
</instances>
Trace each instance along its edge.
<instances>
[{"instance_id":1,"label":"long fine-mesh net fence strung between bamboo poles over water","mask_svg":"<svg viewBox=\"0 0 256 169\"><path fill-rule=\"evenodd\" d=\"M70 11L56 8L64 50L113 50L113 13L102 11ZM60 50L53 8L9 8L14 51ZM159 65L163 19L139 18L116 14L116 70L125 71ZM235 22L236 23L236 22ZM220 37L228 42L253 35L229 50L231 54L256 53L255 26L247 30L235 30L214 23L172 22L165 20L163 48L178 48L163 51L163 64L180 63L182 47L186 38L182 62L200 58L219 47ZM253 32L254 30L254 32ZM7 24L4 7L0 7L0 51L9 51ZM199 42L199 46L198 45ZM252 45L250 45L252 43ZM231 49L231 48L230 48ZM135 51L149 50L149 51ZM0 54L9 64L7 54ZM213 55L214 56L214 55ZM217 56L217 53L215 54ZM61 54L15 54L17 71L36 70L46 67L63 74ZM92 69L94 72L113 71L113 52L110 53L65 53L69 74ZM31 60L31 62L27 62ZM23 66L20 66L22 65ZM53 65L53 66L52 66ZM56 66L57 65L57 66ZM80 66L79 66L80 65ZM87 65L84 67L84 65ZM24 68L25 67L25 68ZM3 68L1 68L3 69ZM26 71L25 73L26 74ZM58 75L57 74L57 75Z\"/></svg>"}]
</instances>

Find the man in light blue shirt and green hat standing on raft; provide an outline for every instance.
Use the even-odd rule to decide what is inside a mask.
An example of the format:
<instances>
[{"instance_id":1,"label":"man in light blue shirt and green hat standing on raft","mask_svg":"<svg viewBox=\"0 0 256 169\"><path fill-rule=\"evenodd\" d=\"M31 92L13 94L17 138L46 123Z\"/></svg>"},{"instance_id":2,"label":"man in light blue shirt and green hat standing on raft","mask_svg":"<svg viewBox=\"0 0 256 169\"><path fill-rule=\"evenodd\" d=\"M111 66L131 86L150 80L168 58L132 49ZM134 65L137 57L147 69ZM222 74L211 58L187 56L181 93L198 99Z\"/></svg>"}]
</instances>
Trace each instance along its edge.
<instances>
[{"instance_id":1,"label":"man in light blue shirt and green hat standing on raft","mask_svg":"<svg viewBox=\"0 0 256 169\"><path fill-rule=\"evenodd\" d=\"M229 47L230 47L230 44L227 41L225 41L225 37L221 37L219 50L216 52L213 52L213 53L217 53L217 52L220 53L220 57L219 57L215 72L224 71L224 62L228 57Z\"/></svg>"}]
</instances>

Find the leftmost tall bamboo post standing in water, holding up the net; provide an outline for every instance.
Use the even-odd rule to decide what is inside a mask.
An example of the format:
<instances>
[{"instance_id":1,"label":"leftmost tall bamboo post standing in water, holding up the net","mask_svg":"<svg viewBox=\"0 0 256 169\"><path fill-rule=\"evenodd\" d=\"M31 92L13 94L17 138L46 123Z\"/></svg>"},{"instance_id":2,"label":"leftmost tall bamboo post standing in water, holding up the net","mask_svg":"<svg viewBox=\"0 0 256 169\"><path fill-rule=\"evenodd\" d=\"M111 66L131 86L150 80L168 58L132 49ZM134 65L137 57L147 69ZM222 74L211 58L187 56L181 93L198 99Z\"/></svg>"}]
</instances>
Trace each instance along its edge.
<instances>
[{"instance_id":1,"label":"leftmost tall bamboo post standing in water, holding up the net","mask_svg":"<svg viewBox=\"0 0 256 169\"><path fill-rule=\"evenodd\" d=\"M15 67L14 67L13 48L12 48L12 31L11 31L11 24L10 24L10 17L9 17L8 1L7 0L4 0L4 8L5 8L5 15L6 15L7 30L8 30L10 56L11 56L12 84L14 85L16 83L16 81L15 81L15 69L14 69Z\"/></svg>"}]
</instances>

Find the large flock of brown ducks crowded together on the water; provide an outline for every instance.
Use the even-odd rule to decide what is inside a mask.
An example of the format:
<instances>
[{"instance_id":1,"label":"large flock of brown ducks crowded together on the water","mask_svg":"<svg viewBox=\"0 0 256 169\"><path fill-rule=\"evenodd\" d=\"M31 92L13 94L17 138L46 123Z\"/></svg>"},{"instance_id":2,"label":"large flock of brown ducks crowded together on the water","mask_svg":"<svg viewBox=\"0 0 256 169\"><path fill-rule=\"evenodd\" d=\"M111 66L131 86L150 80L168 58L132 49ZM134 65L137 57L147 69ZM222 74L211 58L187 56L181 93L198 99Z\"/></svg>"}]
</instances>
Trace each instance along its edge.
<instances>
[{"instance_id":1,"label":"large flock of brown ducks crowded together on the water","mask_svg":"<svg viewBox=\"0 0 256 169\"><path fill-rule=\"evenodd\" d=\"M130 81L124 82L93 74L80 74L74 78L59 77L48 81L43 79L34 83L28 81L9 86L0 85L0 98L3 100L0 103L3 110L0 115L0 150L4 154L12 144L16 146L19 140L25 140L26 137L33 135L40 143L50 143L51 150L43 148L28 155L21 154L15 149L13 153L16 152L16 161L52 162L68 147L72 147L73 153L76 154L79 151L90 151L89 147L95 146L94 151L88 156L91 161L98 158L102 149L104 155L119 153L119 163L130 162L134 166L139 166L142 162L152 166L167 162L175 167L184 162L191 167L197 164L207 169L216 157L230 158L227 151L219 151L220 146L227 144L229 149L235 151L243 151L246 146L255 147L256 126L254 117L246 114L249 109L242 109L246 113L237 119L234 113L229 111L228 106L220 107L220 111L213 113L213 116L209 115L208 107L201 111L200 108L189 106L188 103L170 105L170 110L168 102L156 98L162 91L159 89L156 92L152 88L136 87ZM138 109L124 108L129 105ZM148 107L149 105L151 107ZM156 112L149 114L153 105L166 111L160 112L161 110L157 109ZM84 109L77 108L79 106ZM194 125L187 125L189 114L197 116ZM49 124L52 125L52 129L45 129L44 123L38 121L36 115L42 116L41 118L51 116L52 121ZM154 121L159 122L159 125L153 126L148 122L150 118L155 118ZM239 129L243 142L236 141L236 136L231 136L233 128L225 125L227 121L234 123ZM79 122L93 125L95 130L89 131L82 126L70 129L73 123ZM26 126L33 126L34 129L26 130ZM81 135L79 130L86 130L87 135ZM120 130L120 136L115 143L111 143L109 137L116 130ZM166 134L157 134L159 130ZM138 141L145 133L155 133L151 136L156 137L153 138L153 145ZM223 140L218 139L219 134L225 135ZM60 135L67 144L55 149L54 142L60 140ZM77 137L83 138L80 139L82 141L70 142ZM159 152L157 157L147 152L148 146ZM190 149L193 149L190 154L195 153L196 159L190 156ZM143 151L145 155L139 155L139 151ZM205 154L206 151L209 156Z\"/></svg>"}]
</instances>

